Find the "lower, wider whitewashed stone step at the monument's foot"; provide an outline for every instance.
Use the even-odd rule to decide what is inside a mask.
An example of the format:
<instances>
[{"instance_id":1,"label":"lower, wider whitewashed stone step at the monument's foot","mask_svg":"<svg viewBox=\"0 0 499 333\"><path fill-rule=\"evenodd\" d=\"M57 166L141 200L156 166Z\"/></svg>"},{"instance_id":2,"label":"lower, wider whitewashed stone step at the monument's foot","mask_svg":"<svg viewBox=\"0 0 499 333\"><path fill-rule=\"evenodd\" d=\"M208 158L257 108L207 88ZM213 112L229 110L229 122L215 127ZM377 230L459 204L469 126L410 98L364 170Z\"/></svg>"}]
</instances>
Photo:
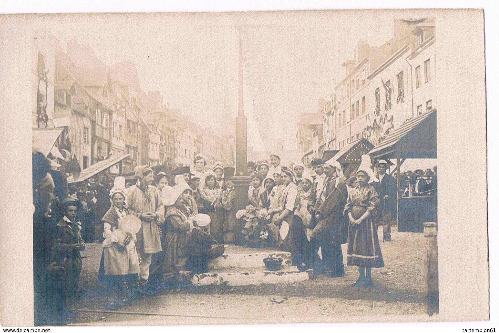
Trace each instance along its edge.
<instances>
[{"instance_id":1,"label":"lower, wider whitewashed stone step at the monument's foot","mask_svg":"<svg viewBox=\"0 0 499 333\"><path fill-rule=\"evenodd\" d=\"M277 271L259 269L221 269L196 274L192 279L194 286L248 286L260 284L293 283L308 280L309 272L300 272L296 267L285 266Z\"/></svg>"}]
</instances>

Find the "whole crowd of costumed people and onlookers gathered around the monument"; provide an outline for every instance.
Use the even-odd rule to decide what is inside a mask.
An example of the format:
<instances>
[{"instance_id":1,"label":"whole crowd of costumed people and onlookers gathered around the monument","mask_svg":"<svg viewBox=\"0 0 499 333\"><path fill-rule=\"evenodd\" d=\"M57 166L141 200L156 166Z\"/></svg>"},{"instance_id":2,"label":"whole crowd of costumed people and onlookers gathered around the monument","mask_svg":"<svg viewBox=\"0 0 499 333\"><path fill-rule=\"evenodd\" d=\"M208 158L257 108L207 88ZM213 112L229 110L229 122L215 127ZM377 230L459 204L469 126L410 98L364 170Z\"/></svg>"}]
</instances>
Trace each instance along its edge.
<instances>
[{"instance_id":1,"label":"whole crowd of costumed people and onlookers gathered around the monument","mask_svg":"<svg viewBox=\"0 0 499 333\"><path fill-rule=\"evenodd\" d=\"M131 186L123 177L102 179L70 188L72 195L59 203L53 200L49 165L38 154L33 155L36 325L62 325L77 315L70 309L82 269L80 252L84 240L93 241L96 225L103 247L98 283L107 288L105 306L111 310L207 272L212 244L245 244L236 217L234 168L221 163L207 168L202 155L193 169L169 174L137 166ZM311 170L301 163L281 165L277 154L269 160L249 162L246 170L247 204L269 217L268 245L290 251L299 270L335 278L345 275L341 244L347 243L347 264L359 267L353 287L371 287L371 268L384 266L377 227L383 225L383 239L389 241L397 209L397 182L386 172L388 162L377 161L373 172L364 155L356 173L345 179L334 159L316 158ZM404 196L436 192L436 167L433 174L417 170L405 177ZM123 231L125 220L138 223L138 232Z\"/></svg>"}]
</instances>

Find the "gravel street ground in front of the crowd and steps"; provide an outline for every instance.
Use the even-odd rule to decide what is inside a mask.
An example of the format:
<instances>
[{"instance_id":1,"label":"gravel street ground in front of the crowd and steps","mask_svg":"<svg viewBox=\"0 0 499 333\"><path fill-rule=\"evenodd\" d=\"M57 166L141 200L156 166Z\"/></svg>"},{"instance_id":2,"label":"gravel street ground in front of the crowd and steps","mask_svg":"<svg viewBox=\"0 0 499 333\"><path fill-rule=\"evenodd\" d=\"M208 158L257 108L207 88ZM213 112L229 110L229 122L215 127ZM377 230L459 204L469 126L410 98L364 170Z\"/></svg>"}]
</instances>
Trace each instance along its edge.
<instances>
[{"instance_id":1,"label":"gravel street ground in front of the crowd and steps","mask_svg":"<svg viewBox=\"0 0 499 333\"><path fill-rule=\"evenodd\" d=\"M382 228L379 228L382 239ZM381 243L385 267L373 269L374 287L352 288L357 267L345 266L344 278L259 286L187 287L162 291L133 301L119 312L106 312L105 290L97 287L102 253L99 243L87 244L80 278L81 312L74 325L185 325L293 322L428 321L424 302L424 237L397 232ZM251 249L258 251L258 249ZM346 265L346 244L343 254ZM278 304L271 298L282 300ZM189 317L191 316L191 317ZM198 316L198 317L195 317Z\"/></svg>"}]
</instances>

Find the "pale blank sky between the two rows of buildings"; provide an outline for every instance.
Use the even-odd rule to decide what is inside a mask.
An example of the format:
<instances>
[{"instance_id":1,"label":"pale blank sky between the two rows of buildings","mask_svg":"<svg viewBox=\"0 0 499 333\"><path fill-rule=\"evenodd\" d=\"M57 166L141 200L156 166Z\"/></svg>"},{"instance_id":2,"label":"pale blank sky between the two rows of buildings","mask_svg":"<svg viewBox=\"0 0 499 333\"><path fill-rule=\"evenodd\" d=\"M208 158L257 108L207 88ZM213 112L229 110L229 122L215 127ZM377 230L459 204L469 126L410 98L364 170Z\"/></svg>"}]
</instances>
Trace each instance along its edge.
<instances>
[{"instance_id":1,"label":"pale blank sky between the two rows of buildings","mask_svg":"<svg viewBox=\"0 0 499 333\"><path fill-rule=\"evenodd\" d=\"M60 40L94 49L106 65L136 64L141 88L158 90L224 135L238 111L238 34L243 26L248 144L294 147L297 115L317 111L344 77L359 40L379 46L393 36L397 12L308 11L174 14L78 14L41 24ZM406 18L406 17L401 17Z\"/></svg>"}]
</instances>

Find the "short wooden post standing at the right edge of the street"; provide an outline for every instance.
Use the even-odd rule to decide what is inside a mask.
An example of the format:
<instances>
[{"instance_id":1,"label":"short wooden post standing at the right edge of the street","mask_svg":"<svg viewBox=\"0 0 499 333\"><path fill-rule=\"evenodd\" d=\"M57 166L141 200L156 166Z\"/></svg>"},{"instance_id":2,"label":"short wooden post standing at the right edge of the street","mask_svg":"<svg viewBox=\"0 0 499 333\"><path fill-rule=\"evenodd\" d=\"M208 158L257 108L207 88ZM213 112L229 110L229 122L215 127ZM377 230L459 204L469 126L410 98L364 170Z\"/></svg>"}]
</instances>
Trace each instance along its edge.
<instances>
[{"instance_id":1,"label":"short wooden post standing at the right edge of the street","mask_svg":"<svg viewBox=\"0 0 499 333\"><path fill-rule=\"evenodd\" d=\"M439 313L437 223L425 222L425 311L428 316Z\"/></svg>"}]
</instances>

